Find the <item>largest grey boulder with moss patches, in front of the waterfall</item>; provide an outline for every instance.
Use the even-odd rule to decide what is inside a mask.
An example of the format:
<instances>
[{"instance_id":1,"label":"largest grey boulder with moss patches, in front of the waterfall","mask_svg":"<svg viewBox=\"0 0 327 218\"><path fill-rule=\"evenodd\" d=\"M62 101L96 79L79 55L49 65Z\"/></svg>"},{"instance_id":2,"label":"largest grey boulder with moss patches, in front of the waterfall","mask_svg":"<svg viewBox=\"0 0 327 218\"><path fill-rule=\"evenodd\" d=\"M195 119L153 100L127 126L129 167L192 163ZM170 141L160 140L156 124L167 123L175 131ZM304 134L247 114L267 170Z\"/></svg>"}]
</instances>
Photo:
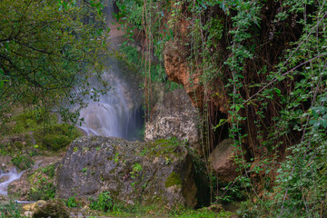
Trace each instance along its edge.
<instances>
[{"instance_id":1,"label":"largest grey boulder with moss patches, in front of the waterfall","mask_svg":"<svg viewBox=\"0 0 327 218\"><path fill-rule=\"evenodd\" d=\"M109 192L114 203L166 208L196 204L192 160L175 139L140 143L78 138L58 169L57 184L57 196L65 199L95 199Z\"/></svg>"}]
</instances>

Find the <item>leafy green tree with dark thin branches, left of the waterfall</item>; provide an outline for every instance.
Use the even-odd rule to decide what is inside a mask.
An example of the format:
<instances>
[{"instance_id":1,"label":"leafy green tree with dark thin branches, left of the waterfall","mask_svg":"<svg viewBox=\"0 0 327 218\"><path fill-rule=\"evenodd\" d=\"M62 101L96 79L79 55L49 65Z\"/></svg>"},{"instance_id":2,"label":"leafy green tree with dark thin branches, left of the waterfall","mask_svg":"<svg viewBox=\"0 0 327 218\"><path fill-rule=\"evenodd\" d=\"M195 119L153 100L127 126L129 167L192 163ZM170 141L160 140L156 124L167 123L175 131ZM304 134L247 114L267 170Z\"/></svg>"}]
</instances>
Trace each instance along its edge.
<instances>
[{"instance_id":1,"label":"leafy green tree with dark thin branches, left of the waterfall","mask_svg":"<svg viewBox=\"0 0 327 218\"><path fill-rule=\"evenodd\" d=\"M15 104L38 105L48 113L66 103L59 111L65 121L75 122L78 116L65 107L82 104L89 74L102 74L100 2L5 0L0 11L1 117ZM78 91L71 92L76 84Z\"/></svg>"}]
</instances>

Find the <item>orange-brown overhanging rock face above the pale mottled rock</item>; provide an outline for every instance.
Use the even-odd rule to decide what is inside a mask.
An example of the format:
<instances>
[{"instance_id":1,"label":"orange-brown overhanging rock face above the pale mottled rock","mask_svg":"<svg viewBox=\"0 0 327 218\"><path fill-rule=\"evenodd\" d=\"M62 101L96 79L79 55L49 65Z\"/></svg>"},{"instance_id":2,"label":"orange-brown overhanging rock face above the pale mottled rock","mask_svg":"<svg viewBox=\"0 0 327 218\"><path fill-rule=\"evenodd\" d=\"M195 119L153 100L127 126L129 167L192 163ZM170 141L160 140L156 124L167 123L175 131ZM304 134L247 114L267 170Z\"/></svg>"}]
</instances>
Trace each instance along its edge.
<instances>
[{"instance_id":1,"label":"orange-brown overhanging rock face above the pale mottled rock","mask_svg":"<svg viewBox=\"0 0 327 218\"><path fill-rule=\"evenodd\" d=\"M187 22L181 20L183 26L187 26ZM214 87L206 87L204 89L201 77L203 70L193 63L193 69L189 66L188 59L190 57L189 48L184 44L187 41L187 28L177 30L180 35L175 41L166 43L163 51L164 69L169 80L183 84L186 94L192 100L192 104L197 108L203 108L204 104L213 105L216 110L223 114L228 112L227 95L224 93L224 84L218 80Z\"/></svg>"}]
</instances>

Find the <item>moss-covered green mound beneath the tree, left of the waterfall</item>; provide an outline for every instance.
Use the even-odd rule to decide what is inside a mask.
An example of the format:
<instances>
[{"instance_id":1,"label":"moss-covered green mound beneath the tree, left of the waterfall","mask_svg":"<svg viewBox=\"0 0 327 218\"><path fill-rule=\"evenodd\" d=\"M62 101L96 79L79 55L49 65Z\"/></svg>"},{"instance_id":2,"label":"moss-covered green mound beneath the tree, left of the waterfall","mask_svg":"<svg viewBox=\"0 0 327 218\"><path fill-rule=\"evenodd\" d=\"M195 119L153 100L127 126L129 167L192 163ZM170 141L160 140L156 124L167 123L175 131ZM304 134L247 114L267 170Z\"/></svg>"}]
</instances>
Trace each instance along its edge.
<instances>
[{"instance_id":1,"label":"moss-covered green mound beneath the tree, left of the waterfall","mask_svg":"<svg viewBox=\"0 0 327 218\"><path fill-rule=\"evenodd\" d=\"M11 155L20 170L33 164L32 156L44 150L58 152L82 135L74 125L58 124L57 115L44 110L16 111L0 126L0 151Z\"/></svg>"}]
</instances>

